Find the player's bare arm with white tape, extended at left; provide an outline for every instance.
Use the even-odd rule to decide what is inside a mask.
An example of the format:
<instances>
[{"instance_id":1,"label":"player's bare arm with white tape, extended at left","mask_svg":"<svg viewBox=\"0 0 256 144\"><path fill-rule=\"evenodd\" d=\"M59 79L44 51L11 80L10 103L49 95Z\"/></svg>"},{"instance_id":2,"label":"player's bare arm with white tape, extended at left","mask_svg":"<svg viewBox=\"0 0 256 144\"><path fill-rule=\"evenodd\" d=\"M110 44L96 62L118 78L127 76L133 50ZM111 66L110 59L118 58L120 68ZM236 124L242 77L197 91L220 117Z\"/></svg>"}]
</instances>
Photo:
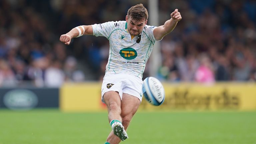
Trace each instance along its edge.
<instances>
[{"instance_id":1,"label":"player's bare arm with white tape, extended at left","mask_svg":"<svg viewBox=\"0 0 256 144\"><path fill-rule=\"evenodd\" d=\"M60 41L66 45L70 44L72 38L80 37L82 35L93 35L93 30L91 25L82 25L73 28L68 33L60 36Z\"/></svg>"}]
</instances>

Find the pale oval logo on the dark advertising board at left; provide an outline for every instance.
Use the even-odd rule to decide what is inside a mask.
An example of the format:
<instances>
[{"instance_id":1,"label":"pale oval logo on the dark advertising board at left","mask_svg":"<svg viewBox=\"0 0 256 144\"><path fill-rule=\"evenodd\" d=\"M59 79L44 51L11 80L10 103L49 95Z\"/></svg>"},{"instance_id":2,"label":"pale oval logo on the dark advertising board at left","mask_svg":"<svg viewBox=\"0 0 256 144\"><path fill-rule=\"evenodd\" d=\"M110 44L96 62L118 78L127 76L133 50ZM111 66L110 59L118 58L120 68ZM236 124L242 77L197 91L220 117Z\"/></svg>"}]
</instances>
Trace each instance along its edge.
<instances>
[{"instance_id":1,"label":"pale oval logo on the dark advertising board at left","mask_svg":"<svg viewBox=\"0 0 256 144\"><path fill-rule=\"evenodd\" d=\"M26 89L16 89L7 92L3 97L6 107L13 110L28 110L38 103L36 94Z\"/></svg>"}]
</instances>

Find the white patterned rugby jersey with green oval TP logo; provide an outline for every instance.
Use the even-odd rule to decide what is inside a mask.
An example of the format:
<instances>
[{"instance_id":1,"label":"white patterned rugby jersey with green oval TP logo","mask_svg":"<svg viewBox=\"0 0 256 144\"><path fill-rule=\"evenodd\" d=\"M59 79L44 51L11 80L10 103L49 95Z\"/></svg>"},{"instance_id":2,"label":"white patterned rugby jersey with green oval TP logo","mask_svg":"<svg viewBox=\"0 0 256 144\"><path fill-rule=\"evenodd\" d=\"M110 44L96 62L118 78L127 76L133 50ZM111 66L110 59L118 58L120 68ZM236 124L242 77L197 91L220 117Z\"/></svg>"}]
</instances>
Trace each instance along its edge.
<instances>
[{"instance_id":1,"label":"white patterned rugby jersey with green oval TP logo","mask_svg":"<svg viewBox=\"0 0 256 144\"><path fill-rule=\"evenodd\" d=\"M128 73L142 78L146 63L157 41L155 26L146 25L139 36L131 39L126 21L92 25L93 35L109 40L109 57L105 74ZM139 40L140 39L140 40Z\"/></svg>"}]
</instances>

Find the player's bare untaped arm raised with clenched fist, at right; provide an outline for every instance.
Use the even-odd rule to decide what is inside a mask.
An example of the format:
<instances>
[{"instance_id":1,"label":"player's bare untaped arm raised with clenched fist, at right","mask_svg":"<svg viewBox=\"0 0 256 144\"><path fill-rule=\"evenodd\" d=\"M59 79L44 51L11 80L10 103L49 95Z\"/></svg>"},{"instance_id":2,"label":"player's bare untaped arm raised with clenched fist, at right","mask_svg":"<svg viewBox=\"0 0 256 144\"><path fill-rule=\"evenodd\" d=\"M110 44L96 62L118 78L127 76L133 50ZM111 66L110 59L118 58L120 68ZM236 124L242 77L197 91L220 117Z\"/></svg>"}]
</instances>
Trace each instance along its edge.
<instances>
[{"instance_id":1,"label":"player's bare untaped arm raised with clenched fist, at right","mask_svg":"<svg viewBox=\"0 0 256 144\"><path fill-rule=\"evenodd\" d=\"M167 20L164 25L154 29L153 34L156 40L161 40L165 35L169 34L176 27L181 18L180 12L178 9L175 9L175 11L171 13L171 19Z\"/></svg>"}]
</instances>

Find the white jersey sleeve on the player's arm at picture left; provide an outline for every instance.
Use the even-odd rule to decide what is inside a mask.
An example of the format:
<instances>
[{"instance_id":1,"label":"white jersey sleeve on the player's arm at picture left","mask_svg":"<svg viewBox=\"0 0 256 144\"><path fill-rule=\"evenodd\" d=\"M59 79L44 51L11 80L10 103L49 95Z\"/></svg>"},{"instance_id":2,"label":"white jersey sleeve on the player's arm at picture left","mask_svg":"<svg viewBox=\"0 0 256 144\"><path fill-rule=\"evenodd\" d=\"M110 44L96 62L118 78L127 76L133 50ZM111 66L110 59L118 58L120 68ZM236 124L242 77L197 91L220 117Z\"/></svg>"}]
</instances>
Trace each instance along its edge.
<instances>
[{"instance_id":1,"label":"white jersey sleeve on the player's arm at picture left","mask_svg":"<svg viewBox=\"0 0 256 144\"><path fill-rule=\"evenodd\" d=\"M93 35L95 36L104 36L107 39L109 38L110 34L113 30L119 28L119 22L105 22L102 24L94 24L92 25Z\"/></svg>"}]
</instances>

